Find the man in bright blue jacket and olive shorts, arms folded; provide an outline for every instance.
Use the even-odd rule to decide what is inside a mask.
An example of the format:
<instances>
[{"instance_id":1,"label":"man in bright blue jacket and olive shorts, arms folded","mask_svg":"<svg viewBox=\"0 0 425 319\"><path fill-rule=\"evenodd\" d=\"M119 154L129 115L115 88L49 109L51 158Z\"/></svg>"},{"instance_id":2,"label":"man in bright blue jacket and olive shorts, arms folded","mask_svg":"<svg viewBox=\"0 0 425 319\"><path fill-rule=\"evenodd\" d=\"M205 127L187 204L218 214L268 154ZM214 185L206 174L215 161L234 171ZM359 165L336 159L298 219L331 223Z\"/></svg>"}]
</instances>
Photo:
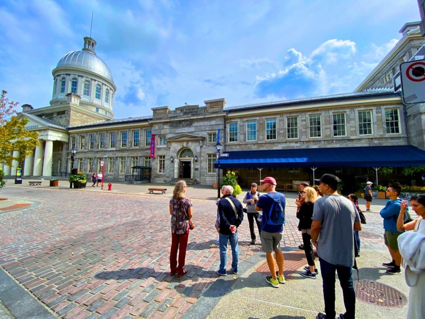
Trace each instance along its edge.
<instances>
[{"instance_id":1,"label":"man in bright blue jacket and olive shorts, arms folded","mask_svg":"<svg viewBox=\"0 0 425 319\"><path fill-rule=\"evenodd\" d=\"M384 218L384 241L385 245L391 254L391 263L383 263L385 267L389 267L387 274L395 275L400 274L400 264L402 262L402 256L399 252L399 245L397 238L402 234L397 230L397 217L399 217L401 200L399 194L402 191L400 185L390 184L387 187L386 195L390 197L384 208L381 209L380 215Z\"/></svg>"}]
</instances>

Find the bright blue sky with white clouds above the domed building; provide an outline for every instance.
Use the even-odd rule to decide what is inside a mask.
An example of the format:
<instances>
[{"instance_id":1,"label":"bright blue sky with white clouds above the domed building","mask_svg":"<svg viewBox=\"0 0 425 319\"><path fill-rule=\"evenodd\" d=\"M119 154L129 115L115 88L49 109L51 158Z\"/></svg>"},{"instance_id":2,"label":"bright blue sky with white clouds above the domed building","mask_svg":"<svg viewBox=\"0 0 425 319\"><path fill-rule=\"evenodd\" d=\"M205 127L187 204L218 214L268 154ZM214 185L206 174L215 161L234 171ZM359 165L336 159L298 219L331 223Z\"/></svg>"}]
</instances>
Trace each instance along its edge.
<instances>
[{"instance_id":1,"label":"bright blue sky with white clouds above the domed building","mask_svg":"<svg viewBox=\"0 0 425 319\"><path fill-rule=\"evenodd\" d=\"M352 92L420 20L417 0L0 0L9 100L49 106L51 72L82 49L92 12L116 119Z\"/></svg>"}]
</instances>

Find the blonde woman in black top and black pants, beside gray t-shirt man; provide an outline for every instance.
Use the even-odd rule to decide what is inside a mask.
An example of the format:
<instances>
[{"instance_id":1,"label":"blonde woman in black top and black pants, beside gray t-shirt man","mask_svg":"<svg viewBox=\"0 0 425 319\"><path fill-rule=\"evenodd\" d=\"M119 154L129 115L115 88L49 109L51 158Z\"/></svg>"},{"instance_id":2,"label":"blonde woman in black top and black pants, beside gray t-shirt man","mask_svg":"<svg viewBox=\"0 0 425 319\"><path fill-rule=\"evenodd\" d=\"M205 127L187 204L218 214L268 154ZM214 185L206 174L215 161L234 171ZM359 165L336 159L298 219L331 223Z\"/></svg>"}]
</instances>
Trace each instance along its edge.
<instances>
[{"instance_id":1,"label":"blonde woman in black top and black pants, beside gray t-shirt man","mask_svg":"<svg viewBox=\"0 0 425 319\"><path fill-rule=\"evenodd\" d=\"M311 216L313 216L313 206L317 199L317 193L313 187L304 187L302 196L304 197L304 203L296 213L296 218L299 219L298 230L301 231L308 266L304 267L305 271L300 272L300 275L316 279L317 268L314 261L313 246L311 245Z\"/></svg>"}]
</instances>

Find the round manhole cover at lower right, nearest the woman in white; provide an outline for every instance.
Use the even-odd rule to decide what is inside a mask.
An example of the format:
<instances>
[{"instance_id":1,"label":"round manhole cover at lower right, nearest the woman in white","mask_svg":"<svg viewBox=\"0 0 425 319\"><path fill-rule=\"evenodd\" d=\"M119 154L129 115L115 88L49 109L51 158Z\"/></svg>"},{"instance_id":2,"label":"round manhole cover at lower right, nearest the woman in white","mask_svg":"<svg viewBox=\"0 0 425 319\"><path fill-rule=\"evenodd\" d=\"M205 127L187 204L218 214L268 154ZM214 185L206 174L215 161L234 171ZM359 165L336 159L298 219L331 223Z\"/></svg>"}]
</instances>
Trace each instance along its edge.
<instances>
[{"instance_id":1,"label":"round manhole cover at lower right, nearest the woman in white","mask_svg":"<svg viewBox=\"0 0 425 319\"><path fill-rule=\"evenodd\" d=\"M397 289L372 280L354 281L358 300L381 307L403 307L407 298Z\"/></svg>"}]
</instances>

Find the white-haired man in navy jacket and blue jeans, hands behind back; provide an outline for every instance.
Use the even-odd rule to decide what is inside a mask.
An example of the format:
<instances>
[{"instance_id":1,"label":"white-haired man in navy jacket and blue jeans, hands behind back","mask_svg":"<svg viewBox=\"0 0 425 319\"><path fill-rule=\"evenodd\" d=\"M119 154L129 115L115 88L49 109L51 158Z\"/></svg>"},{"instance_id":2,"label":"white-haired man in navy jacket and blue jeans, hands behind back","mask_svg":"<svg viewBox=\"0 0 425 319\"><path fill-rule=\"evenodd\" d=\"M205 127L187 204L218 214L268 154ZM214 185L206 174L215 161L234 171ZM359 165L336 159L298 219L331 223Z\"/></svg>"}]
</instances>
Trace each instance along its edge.
<instances>
[{"instance_id":1,"label":"white-haired man in navy jacket and blue jeans, hands behind back","mask_svg":"<svg viewBox=\"0 0 425 319\"><path fill-rule=\"evenodd\" d=\"M241 202L232 195L232 186L224 185L221 187L221 193L223 196L218 203L218 212L220 216L220 267L216 273L220 276L226 276L228 242L230 242L230 247L232 247L232 271L234 274L238 273L238 227L244 219L244 211Z\"/></svg>"}]
</instances>

